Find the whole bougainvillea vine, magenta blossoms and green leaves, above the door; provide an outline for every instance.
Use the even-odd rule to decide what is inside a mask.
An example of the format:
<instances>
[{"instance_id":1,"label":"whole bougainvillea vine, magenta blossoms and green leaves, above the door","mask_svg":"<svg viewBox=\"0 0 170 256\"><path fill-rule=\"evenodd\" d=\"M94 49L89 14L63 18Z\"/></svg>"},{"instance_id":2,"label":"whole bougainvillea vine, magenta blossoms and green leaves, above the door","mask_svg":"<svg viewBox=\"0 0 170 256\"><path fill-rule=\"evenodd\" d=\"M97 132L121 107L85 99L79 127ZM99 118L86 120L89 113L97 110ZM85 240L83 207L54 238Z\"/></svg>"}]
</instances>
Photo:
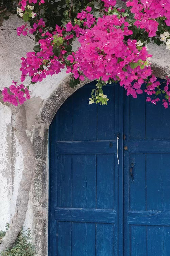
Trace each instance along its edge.
<instances>
[{"instance_id":1,"label":"whole bougainvillea vine, magenta blossoms and green leaves, above the door","mask_svg":"<svg viewBox=\"0 0 170 256\"><path fill-rule=\"evenodd\" d=\"M122 1L122 6L115 0L84 1L79 8L76 0L67 0L62 23L55 25L46 15L49 2L19 2L17 13L25 24L17 28L17 34L31 33L36 40L34 52L21 58L21 83L27 76L31 84L41 82L47 75L58 74L66 67L66 72L72 74L71 87L85 77L97 80L89 104L107 104L102 87L119 82L127 95L136 98L144 91L147 101L156 105L162 100L168 108L170 79L166 77L164 85L156 81L151 69L152 55L146 44L150 41L163 43L167 51L170 50L169 0L129 0ZM60 4L57 7L62 11ZM73 51L72 42L76 38L80 46ZM145 84L144 89L142 84ZM4 88L3 96L4 101L22 104L30 97L29 86L13 81L8 89Z\"/></svg>"}]
</instances>

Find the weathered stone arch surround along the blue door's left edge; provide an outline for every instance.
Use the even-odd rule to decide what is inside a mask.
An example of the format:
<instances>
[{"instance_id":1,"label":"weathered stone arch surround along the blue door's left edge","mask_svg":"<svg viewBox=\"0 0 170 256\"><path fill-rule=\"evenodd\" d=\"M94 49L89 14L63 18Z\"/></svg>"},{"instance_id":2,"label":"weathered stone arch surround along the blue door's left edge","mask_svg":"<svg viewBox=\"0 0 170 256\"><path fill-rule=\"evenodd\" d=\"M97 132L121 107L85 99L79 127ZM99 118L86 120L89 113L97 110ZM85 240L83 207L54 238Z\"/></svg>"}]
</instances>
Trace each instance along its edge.
<instances>
[{"instance_id":1,"label":"weathered stone arch surround along the blue door's left edge","mask_svg":"<svg viewBox=\"0 0 170 256\"><path fill-rule=\"evenodd\" d=\"M68 75L43 102L32 132L32 145L36 158L36 173L30 192L32 209L32 232L37 256L48 255L48 129L54 115L64 101L77 89L87 84L81 82L76 88L69 86Z\"/></svg>"}]
</instances>

